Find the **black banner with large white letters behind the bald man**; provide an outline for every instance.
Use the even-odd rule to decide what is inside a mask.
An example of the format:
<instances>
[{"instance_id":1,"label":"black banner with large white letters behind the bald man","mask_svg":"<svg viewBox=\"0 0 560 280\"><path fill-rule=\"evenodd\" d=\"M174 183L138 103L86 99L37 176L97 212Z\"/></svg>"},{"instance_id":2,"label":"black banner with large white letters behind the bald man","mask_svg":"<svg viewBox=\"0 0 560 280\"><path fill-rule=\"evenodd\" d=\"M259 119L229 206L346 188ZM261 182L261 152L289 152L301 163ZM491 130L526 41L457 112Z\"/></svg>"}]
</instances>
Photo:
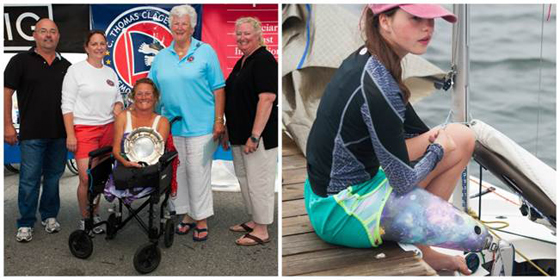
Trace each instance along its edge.
<instances>
[{"instance_id":1,"label":"black banner with large white letters behind the bald man","mask_svg":"<svg viewBox=\"0 0 560 280\"><path fill-rule=\"evenodd\" d=\"M89 5L86 4L5 4L4 52L27 51L35 46L33 30L41 18L56 22L59 52L83 53L83 40L89 31Z\"/></svg>"}]
</instances>

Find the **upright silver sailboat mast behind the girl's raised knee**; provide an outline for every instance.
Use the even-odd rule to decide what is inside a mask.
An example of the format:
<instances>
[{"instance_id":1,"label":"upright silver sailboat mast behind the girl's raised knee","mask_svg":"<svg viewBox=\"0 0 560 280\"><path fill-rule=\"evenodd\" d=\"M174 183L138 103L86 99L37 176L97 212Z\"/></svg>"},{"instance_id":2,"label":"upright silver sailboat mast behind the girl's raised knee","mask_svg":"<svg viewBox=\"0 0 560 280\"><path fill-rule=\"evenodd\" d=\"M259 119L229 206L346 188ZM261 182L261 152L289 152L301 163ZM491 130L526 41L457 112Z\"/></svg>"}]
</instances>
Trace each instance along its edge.
<instances>
[{"instance_id":1,"label":"upright silver sailboat mast behind the girl's raised knee","mask_svg":"<svg viewBox=\"0 0 560 280\"><path fill-rule=\"evenodd\" d=\"M469 45L470 45L470 6L454 4L453 13L458 21L453 25L452 65L456 71L451 98L454 122L467 122L469 116ZM455 186L452 203L459 209L468 209L468 167Z\"/></svg>"}]
</instances>

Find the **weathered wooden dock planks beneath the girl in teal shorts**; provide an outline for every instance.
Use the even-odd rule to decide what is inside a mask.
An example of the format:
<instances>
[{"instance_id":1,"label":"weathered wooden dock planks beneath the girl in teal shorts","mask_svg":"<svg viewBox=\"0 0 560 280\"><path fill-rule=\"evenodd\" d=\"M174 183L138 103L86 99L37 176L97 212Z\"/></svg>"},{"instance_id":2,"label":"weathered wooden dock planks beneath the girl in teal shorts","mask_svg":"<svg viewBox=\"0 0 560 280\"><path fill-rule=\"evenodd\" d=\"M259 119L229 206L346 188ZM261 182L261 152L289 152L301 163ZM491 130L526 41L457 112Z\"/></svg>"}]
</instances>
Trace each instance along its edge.
<instances>
[{"instance_id":1,"label":"weathered wooden dock planks beneath the girl in teal shorts","mask_svg":"<svg viewBox=\"0 0 560 280\"><path fill-rule=\"evenodd\" d=\"M295 275L436 275L412 252L394 242L378 248L354 249L321 240L313 231L303 200L305 157L282 134L282 274ZM383 253L382 255L380 255Z\"/></svg>"}]
</instances>

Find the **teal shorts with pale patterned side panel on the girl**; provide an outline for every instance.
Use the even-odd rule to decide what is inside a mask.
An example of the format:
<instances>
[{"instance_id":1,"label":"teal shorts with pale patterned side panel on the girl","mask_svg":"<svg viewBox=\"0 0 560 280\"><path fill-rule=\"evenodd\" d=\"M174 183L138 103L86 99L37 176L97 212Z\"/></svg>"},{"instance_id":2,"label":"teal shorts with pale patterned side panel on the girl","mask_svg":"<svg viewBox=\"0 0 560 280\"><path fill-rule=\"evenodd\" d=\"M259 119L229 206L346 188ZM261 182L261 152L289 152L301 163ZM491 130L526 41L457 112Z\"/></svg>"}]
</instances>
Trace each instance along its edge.
<instances>
[{"instance_id":1,"label":"teal shorts with pale patterned side panel on the girl","mask_svg":"<svg viewBox=\"0 0 560 280\"><path fill-rule=\"evenodd\" d=\"M393 188L383 170L336 195L321 197L305 181L305 209L315 233L324 241L353 248L381 245L379 220Z\"/></svg>"}]
</instances>

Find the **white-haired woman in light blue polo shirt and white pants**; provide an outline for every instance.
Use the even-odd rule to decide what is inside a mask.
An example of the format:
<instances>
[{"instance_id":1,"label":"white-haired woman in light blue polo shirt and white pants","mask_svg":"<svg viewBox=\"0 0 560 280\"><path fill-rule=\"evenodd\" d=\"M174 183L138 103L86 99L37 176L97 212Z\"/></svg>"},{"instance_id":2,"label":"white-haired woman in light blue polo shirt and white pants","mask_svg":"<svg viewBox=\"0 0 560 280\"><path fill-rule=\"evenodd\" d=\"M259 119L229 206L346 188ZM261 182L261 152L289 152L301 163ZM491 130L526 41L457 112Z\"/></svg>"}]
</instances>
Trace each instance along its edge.
<instances>
[{"instance_id":1,"label":"white-haired woman in light blue polo shirt and white pants","mask_svg":"<svg viewBox=\"0 0 560 280\"><path fill-rule=\"evenodd\" d=\"M179 152L177 214L184 214L178 234L194 228L193 240L208 237L206 219L214 214L210 174L212 155L223 134L225 80L216 52L192 37L196 11L189 5L170 12L173 42L155 57L149 77L161 91L161 113L173 124L173 142Z\"/></svg>"}]
</instances>

